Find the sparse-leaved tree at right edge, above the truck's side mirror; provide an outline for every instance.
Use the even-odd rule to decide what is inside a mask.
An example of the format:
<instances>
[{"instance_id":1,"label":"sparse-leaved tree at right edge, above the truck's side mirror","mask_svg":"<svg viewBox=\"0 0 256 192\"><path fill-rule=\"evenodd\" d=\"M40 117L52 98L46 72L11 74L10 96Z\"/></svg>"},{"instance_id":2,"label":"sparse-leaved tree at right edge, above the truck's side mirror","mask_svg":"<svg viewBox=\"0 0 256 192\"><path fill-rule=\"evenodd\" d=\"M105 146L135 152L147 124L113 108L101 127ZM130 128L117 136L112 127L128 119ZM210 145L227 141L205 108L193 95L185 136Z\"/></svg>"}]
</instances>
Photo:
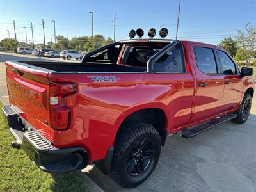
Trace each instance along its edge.
<instances>
[{"instance_id":1,"label":"sparse-leaved tree at right edge, above the truck's side mirror","mask_svg":"<svg viewBox=\"0 0 256 192\"><path fill-rule=\"evenodd\" d=\"M256 51L256 28L253 28L250 23L246 24L245 31L237 32L236 41L239 49L235 58L245 60L246 67L248 67Z\"/></svg>"}]
</instances>

